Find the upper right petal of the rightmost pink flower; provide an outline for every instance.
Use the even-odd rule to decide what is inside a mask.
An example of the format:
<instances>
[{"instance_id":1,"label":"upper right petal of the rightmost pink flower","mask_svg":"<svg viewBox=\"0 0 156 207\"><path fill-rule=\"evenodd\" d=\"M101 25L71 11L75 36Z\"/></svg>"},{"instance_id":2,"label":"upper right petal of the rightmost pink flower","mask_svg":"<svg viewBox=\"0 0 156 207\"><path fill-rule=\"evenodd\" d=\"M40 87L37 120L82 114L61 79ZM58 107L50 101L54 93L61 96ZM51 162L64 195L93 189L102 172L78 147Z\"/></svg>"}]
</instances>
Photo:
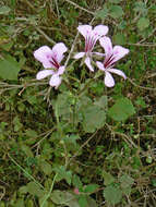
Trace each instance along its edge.
<instances>
[{"instance_id":1,"label":"upper right petal of the rightmost pink flower","mask_svg":"<svg viewBox=\"0 0 156 207\"><path fill-rule=\"evenodd\" d=\"M113 47L113 57L115 57L113 62L123 58L128 53L129 53L129 49L123 48L122 46L115 46Z\"/></svg>"}]
</instances>

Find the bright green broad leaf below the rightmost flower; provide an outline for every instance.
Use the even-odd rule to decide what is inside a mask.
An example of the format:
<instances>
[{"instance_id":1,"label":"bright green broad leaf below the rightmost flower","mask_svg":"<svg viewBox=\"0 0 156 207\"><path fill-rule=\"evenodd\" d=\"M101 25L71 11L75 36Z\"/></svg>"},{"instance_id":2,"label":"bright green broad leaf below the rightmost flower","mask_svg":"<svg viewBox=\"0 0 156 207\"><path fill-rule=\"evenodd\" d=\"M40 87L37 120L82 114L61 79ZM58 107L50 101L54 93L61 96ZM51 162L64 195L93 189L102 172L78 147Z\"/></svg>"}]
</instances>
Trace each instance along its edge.
<instances>
[{"instance_id":1,"label":"bright green broad leaf below the rightmost flower","mask_svg":"<svg viewBox=\"0 0 156 207\"><path fill-rule=\"evenodd\" d=\"M108 115L116 121L125 121L128 118L135 113L135 109L128 98L120 98L108 110Z\"/></svg>"}]
</instances>

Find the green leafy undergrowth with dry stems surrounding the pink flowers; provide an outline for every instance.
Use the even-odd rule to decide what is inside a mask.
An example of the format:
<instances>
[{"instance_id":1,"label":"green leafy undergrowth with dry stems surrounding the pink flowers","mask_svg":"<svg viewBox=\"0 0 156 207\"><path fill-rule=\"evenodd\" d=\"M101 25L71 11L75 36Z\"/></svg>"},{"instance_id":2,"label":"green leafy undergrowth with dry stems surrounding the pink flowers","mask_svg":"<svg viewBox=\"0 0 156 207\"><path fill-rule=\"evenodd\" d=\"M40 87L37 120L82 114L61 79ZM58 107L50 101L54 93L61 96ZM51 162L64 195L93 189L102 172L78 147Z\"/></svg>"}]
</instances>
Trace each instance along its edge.
<instances>
[{"instance_id":1,"label":"green leafy undergrowth with dry stems surrounding the pink flowers","mask_svg":"<svg viewBox=\"0 0 156 207\"><path fill-rule=\"evenodd\" d=\"M129 78L75 62L58 90L37 82L33 51L89 23L130 49ZM0 1L0 207L156 206L155 25L154 0Z\"/></svg>"}]
</instances>

